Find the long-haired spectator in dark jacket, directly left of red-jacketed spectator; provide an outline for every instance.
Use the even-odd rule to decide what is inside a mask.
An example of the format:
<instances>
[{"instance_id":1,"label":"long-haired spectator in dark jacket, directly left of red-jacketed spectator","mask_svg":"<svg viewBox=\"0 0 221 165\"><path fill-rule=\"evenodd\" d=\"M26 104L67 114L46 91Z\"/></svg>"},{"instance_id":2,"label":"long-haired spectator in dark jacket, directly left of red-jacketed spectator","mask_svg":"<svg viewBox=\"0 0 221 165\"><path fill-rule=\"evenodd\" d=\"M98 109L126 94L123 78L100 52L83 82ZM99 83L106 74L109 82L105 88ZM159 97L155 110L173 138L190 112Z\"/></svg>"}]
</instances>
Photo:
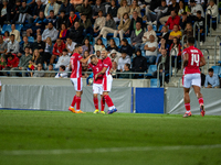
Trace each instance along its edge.
<instances>
[{"instance_id":1,"label":"long-haired spectator in dark jacket, directly left of red-jacketed spectator","mask_svg":"<svg viewBox=\"0 0 221 165\"><path fill-rule=\"evenodd\" d=\"M52 43L52 40L50 36L46 37L45 42L45 48L44 48L44 54L42 56L42 64L49 64L49 61L51 59L52 56L52 51L53 51L54 44Z\"/></svg>"}]
</instances>

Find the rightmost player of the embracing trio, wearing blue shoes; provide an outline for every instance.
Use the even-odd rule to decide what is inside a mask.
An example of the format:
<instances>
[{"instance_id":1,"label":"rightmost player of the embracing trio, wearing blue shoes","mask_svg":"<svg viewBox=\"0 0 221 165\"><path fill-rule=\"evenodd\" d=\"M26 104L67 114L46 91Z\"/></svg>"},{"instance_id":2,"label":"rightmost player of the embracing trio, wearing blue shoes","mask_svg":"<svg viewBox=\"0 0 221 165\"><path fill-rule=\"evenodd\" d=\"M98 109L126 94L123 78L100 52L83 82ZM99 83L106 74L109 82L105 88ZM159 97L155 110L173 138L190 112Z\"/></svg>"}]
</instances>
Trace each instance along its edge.
<instances>
[{"instance_id":1,"label":"rightmost player of the embracing trio, wearing blue shoes","mask_svg":"<svg viewBox=\"0 0 221 165\"><path fill-rule=\"evenodd\" d=\"M102 58L103 58L104 67L102 72L95 75L95 79L97 79L99 75L103 75L103 88L104 88L103 96L104 96L105 102L108 106L107 114L112 114L117 111L110 97L108 96L108 92L112 90L112 81L113 81L113 77L109 73L112 68L112 59L107 56L106 51L102 51Z\"/></svg>"}]
</instances>

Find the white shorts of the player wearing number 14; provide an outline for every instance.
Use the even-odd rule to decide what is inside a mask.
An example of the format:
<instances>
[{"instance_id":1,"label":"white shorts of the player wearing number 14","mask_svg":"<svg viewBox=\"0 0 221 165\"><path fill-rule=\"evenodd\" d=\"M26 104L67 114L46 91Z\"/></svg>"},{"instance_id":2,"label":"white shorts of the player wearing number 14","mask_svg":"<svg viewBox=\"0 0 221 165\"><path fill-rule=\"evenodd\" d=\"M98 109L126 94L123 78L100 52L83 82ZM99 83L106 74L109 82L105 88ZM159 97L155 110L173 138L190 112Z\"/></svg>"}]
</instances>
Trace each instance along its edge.
<instances>
[{"instance_id":1,"label":"white shorts of the player wearing number 14","mask_svg":"<svg viewBox=\"0 0 221 165\"><path fill-rule=\"evenodd\" d=\"M185 88L190 88L191 86L201 87L200 74L187 74L182 76L182 86Z\"/></svg>"}]
</instances>

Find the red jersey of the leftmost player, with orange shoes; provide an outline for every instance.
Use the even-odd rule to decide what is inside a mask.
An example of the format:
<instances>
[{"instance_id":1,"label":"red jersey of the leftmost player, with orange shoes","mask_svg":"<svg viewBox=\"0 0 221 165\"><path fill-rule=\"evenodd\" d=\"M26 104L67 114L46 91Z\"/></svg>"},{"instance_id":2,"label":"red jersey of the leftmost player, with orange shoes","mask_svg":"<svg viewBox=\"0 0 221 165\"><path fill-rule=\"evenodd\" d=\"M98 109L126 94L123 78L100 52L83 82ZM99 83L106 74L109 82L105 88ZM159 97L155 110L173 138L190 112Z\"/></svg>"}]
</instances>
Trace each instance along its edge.
<instances>
[{"instance_id":1,"label":"red jersey of the leftmost player, with orange shoes","mask_svg":"<svg viewBox=\"0 0 221 165\"><path fill-rule=\"evenodd\" d=\"M82 77L82 63L80 62L82 56L78 53L74 53L70 59L72 65L71 78Z\"/></svg>"}]
</instances>

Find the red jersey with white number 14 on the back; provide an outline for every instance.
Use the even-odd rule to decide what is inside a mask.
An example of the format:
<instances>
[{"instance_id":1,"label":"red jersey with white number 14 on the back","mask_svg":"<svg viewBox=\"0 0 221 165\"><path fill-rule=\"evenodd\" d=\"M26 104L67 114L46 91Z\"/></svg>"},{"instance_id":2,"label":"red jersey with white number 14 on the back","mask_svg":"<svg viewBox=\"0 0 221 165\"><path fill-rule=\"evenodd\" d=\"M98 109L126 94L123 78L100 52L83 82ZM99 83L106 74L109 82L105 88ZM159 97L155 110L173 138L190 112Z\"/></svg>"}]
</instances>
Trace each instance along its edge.
<instances>
[{"instance_id":1,"label":"red jersey with white number 14 on the back","mask_svg":"<svg viewBox=\"0 0 221 165\"><path fill-rule=\"evenodd\" d=\"M200 74L200 59L203 56L202 52L194 46L185 48L182 55L188 54L188 65L183 69L183 74Z\"/></svg>"}]
</instances>

